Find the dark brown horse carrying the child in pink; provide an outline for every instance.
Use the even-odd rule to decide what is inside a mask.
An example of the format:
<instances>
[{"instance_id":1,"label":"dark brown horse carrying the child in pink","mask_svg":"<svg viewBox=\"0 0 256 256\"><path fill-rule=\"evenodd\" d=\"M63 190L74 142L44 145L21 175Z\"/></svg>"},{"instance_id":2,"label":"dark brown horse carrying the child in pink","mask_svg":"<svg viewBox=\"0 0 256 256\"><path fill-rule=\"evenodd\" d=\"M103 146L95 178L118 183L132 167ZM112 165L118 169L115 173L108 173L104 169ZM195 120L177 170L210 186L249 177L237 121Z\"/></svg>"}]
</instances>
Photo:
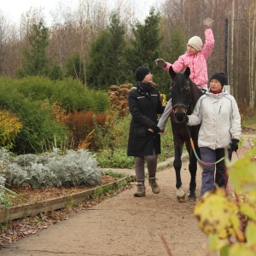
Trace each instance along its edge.
<instances>
[{"instance_id":1,"label":"dark brown horse carrying the child in pink","mask_svg":"<svg viewBox=\"0 0 256 256\"><path fill-rule=\"evenodd\" d=\"M169 74L172 78L172 82L170 84L170 93L172 97L171 123L175 153L173 166L176 173L177 200L183 201L185 198L185 192L183 191L183 183L180 175L180 170L182 167L181 157L183 153L183 145L185 143L189 153L190 183L188 199L189 201L196 201L195 177L197 171L197 160L195 154L193 154L190 136L192 137L195 145L195 152L200 156L200 150L197 144L200 125L188 126L186 123L186 115L193 112L196 102L203 95L203 93L200 89L198 89L196 84L189 79L189 67L187 67L184 72L175 73L171 66L169 69ZM189 129L190 134L187 129Z\"/></svg>"}]
</instances>

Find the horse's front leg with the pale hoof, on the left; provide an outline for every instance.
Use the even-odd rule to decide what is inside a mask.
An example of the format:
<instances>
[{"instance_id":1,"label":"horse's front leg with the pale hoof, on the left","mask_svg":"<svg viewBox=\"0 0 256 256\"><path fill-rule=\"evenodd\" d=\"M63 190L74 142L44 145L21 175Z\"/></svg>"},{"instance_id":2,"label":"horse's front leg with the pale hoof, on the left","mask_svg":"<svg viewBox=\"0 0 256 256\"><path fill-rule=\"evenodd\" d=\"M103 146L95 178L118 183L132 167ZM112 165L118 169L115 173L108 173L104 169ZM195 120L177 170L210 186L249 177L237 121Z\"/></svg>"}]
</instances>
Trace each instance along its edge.
<instances>
[{"instance_id":1,"label":"horse's front leg with the pale hoof, on the left","mask_svg":"<svg viewBox=\"0 0 256 256\"><path fill-rule=\"evenodd\" d=\"M182 186L183 183L180 175L180 170L182 167L182 160L181 160L182 148L183 148L183 145L175 147L175 155L174 155L174 161L173 161L173 167L176 173L177 201L183 201L186 195L185 192L183 191L183 186Z\"/></svg>"}]
</instances>

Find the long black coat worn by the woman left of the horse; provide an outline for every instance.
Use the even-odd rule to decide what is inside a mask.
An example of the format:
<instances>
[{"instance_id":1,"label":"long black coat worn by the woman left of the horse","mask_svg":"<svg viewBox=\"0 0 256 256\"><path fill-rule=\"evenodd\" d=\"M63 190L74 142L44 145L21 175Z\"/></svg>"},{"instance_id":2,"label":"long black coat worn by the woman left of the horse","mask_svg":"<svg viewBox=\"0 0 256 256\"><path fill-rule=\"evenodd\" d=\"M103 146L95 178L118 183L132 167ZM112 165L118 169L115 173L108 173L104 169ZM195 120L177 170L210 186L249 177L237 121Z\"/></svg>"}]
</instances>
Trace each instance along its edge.
<instances>
[{"instance_id":1,"label":"long black coat worn by the woman left of the horse","mask_svg":"<svg viewBox=\"0 0 256 256\"><path fill-rule=\"evenodd\" d=\"M160 102L159 90L151 84L137 82L129 92L128 102L131 124L127 155L152 155L153 148L155 154L160 154L160 135L148 131L152 125L157 125L157 114L165 109Z\"/></svg>"}]
</instances>

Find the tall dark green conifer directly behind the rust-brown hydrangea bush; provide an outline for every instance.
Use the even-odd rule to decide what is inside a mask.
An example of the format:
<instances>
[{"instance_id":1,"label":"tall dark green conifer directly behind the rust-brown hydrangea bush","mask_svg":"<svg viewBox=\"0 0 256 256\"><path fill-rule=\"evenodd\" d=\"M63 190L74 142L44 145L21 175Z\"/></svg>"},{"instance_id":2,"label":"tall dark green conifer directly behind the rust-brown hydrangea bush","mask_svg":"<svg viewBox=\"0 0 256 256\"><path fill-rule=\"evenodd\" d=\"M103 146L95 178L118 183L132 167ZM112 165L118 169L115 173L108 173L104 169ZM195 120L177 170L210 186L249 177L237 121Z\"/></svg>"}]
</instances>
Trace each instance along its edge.
<instances>
[{"instance_id":1,"label":"tall dark green conifer directly behind the rust-brown hydrangea bush","mask_svg":"<svg viewBox=\"0 0 256 256\"><path fill-rule=\"evenodd\" d=\"M88 84L101 89L124 83L121 67L124 61L125 26L116 13L110 19L110 25L91 45L90 62L87 65Z\"/></svg>"}]
</instances>

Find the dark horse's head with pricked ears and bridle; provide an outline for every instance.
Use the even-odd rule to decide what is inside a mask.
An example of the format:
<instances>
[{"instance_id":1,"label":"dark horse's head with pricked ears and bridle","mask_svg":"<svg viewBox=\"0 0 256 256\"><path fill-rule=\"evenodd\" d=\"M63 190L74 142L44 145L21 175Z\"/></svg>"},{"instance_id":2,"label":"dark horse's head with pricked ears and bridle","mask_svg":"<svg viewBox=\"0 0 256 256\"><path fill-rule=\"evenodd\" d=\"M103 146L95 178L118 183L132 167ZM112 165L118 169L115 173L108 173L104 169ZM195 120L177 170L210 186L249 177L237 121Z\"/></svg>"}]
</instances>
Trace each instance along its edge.
<instances>
[{"instance_id":1,"label":"dark horse's head with pricked ears and bridle","mask_svg":"<svg viewBox=\"0 0 256 256\"><path fill-rule=\"evenodd\" d=\"M174 113L177 123L182 123L185 120L191 101L189 86L190 69L187 67L184 72L175 73L171 66L169 74L172 78L170 86L172 112Z\"/></svg>"}]
</instances>

